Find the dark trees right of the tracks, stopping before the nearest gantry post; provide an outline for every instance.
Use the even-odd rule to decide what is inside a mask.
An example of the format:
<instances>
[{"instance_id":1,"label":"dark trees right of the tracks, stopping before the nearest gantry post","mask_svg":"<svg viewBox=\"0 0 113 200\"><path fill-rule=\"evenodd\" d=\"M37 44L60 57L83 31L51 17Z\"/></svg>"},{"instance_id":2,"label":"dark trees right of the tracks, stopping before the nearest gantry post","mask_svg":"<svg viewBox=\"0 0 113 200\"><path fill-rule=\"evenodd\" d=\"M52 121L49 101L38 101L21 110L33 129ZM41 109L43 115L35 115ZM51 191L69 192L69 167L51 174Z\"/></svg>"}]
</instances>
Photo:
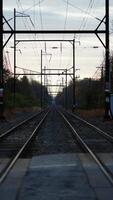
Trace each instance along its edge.
<instances>
[{"instance_id":1,"label":"dark trees right of the tracks, stopping before the nearest gantry post","mask_svg":"<svg viewBox=\"0 0 113 200\"><path fill-rule=\"evenodd\" d=\"M58 104L63 105L65 99L64 89L63 93L60 93L56 97L56 101ZM73 84L72 82L69 84L67 88L67 106L68 108L72 108L73 102ZM100 80L93 79L83 79L76 81L76 106L82 109L91 109L91 108L100 108L103 107L104 102L104 90L102 88L102 83Z\"/></svg>"}]
</instances>

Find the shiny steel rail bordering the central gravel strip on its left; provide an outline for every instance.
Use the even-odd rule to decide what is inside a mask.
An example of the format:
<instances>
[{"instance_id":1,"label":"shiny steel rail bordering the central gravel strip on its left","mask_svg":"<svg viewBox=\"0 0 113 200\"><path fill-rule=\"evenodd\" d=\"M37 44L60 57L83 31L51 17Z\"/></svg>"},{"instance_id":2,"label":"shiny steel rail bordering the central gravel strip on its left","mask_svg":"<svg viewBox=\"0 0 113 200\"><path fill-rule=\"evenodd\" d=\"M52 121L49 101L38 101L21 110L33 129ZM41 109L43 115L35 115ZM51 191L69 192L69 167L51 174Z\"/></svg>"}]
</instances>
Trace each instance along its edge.
<instances>
[{"instance_id":1,"label":"shiny steel rail bordering the central gravel strip on its left","mask_svg":"<svg viewBox=\"0 0 113 200\"><path fill-rule=\"evenodd\" d=\"M18 158L28 148L28 145L32 142L32 140L36 136L37 131L39 130L39 128L43 124L43 122L46 119L48 113L49 113L49 111L46 112L46 114L44 115L44 117L40 120L40 122L38 123L38 125L36 126L36 128L34 129L34 131L32 132L32 134L30 135L30 137L27 139L27 141L24 143L24 145L20 148L20 150L18 151L18 153L16 154L16 156L11 160L11 162L8 164L8 166L6 166L6 168L4 169L4 172L3 173L1 172L1 175L0 175L0 184L6 179L7 175L10 173L11 169L13 168L13 166L15 165L15 163L17 162Z\"/></svg>"}]
</instances>

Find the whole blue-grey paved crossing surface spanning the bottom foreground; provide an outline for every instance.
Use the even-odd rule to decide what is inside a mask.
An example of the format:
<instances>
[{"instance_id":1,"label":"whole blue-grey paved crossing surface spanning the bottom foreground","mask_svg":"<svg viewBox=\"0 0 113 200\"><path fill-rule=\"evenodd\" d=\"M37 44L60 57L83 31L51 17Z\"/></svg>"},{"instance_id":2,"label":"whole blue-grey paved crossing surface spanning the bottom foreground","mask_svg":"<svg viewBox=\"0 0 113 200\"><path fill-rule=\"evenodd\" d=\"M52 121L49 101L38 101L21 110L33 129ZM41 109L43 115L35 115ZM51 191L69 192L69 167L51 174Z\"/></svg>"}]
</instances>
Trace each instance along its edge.
<instances>
[{"instance_id":1,"label":"whole blue-grey paved crossing surface spanning the bottom foreground","mask_svg":"<svg viewBox=\"0 0 113 200\"><path fill-rule=\"evenodd\" d=\"M107 162L113 166L113 155ZM13 186L20 176L13 179L15 173L0 189L4 200L113 200L113 187L88 154L42 155L27 160L25 165L17 191ZM11 191L15 197L10 196Z\"/></svg>"}]
</instances>

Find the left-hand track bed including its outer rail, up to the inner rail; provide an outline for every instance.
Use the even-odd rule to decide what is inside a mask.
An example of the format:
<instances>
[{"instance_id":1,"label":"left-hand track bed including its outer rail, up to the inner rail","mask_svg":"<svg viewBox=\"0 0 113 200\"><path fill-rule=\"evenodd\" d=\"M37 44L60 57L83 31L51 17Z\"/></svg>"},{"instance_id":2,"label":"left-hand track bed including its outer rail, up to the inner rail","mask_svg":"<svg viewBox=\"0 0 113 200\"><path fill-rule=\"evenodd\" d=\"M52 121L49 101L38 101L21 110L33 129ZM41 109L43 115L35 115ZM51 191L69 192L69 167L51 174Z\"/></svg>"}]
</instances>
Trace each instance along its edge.
<instances>
[{"instance_id":1,"label":"left-hand track bed including its outer rail, up to the inner rail","mask_svg":"<svg viewBox=\"0 0 113 200\"><path fill-rule=\"evenodd\" d=\"M32 133L34 127L40 121L40 118L46 111L42 111L38 114L27 118L23 122L15 125L8 131L0 135L0 157L11 157L13 152L16 152L18 148L22 146L26 138Z\"/></svg>"}]
</instances>

